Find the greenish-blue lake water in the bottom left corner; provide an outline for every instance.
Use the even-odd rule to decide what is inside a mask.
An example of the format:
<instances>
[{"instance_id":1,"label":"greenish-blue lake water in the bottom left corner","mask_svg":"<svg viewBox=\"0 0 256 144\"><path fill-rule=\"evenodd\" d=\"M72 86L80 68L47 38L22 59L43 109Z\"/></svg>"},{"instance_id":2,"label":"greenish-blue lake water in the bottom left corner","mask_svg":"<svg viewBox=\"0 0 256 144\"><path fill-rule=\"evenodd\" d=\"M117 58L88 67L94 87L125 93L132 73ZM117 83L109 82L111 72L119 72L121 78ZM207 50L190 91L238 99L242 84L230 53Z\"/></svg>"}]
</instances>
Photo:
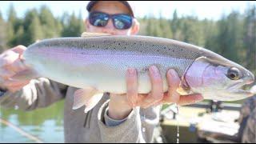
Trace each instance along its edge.
<instances>
[{"instance_id":1,"label":"greenish-blue lake water in the bottom left corner","mask_svg":"<svg viewBox=\"0 0 256 144\"><path fill-rule=\"evenodd\" d=\"M11 122L42 142L64 142L63 105L64 101L62 100L52 106L26 112L0 107L0 118ZM13 127L0 122L0 142L35 141L20 134Z\"/></svg>"}]
</instances>

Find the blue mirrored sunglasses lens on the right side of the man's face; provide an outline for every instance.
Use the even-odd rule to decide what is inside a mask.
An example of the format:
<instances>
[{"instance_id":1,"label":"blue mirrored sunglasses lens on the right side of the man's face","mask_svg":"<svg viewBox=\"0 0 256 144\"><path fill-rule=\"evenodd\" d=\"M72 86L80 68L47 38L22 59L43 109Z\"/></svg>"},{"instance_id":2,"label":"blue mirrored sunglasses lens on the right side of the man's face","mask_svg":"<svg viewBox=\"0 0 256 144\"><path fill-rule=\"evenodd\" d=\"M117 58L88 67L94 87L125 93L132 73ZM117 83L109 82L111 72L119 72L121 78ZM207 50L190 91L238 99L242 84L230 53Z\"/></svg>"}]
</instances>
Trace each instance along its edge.
<instances>
[{"instance_id":1,"label":"blue mirrored sunglasses lens on the right side of the man's face","mask_svg":"<svg viewBox=\"0 0 256 144\"><path fill-rule=\"evenodd\" d=\"M114 26L118 30L129 29L132 25L132 18L126 14L117 14L113 16Z\"/></svg>"}]
</instances>

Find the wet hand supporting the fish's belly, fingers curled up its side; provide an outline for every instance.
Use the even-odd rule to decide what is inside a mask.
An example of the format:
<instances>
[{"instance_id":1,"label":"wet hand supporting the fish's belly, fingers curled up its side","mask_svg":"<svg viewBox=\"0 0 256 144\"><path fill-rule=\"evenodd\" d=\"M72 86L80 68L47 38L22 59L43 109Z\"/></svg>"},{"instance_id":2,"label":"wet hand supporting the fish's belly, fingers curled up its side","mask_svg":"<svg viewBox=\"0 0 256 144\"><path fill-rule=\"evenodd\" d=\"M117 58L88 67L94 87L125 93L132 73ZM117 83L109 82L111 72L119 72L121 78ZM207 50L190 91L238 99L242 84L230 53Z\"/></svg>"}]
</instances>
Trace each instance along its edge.
<instances>
[{"instance_id":1,"label":"wet hand supporting the fish's belly, fingers curled up its side","mask_svg":"<svg viewBox=\"0 0 256 144\"><path fill-rule=\"evenodd\" d=\"M134 69L126 73L126 94L110 94L109 116L115 119L126 118L135 106L148 108L162 103L177 103L180 106L202 101L201 94L179 95L178 89L180 78L174 70L168 70L166 74L168 92L163 93L161 74L156 66L150 66L150 82L152 90L150 94L138 94L138 79Z\"/></svg>"}]
</instances>

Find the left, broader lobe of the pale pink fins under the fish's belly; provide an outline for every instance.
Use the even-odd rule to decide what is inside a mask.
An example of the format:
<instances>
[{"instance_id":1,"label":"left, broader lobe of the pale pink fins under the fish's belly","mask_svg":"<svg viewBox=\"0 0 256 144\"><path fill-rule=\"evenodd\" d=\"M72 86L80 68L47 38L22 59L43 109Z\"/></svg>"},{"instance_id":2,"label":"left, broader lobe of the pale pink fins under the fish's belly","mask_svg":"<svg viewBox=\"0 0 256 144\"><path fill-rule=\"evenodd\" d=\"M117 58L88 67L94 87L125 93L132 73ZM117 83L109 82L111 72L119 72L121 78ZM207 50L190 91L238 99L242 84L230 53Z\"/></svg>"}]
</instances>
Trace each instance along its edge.
<instances>
[{"instance_id":1,"label":"left, broader lobe of the pale pink fins under the fish's belly","mask_svg":"<svg viewBox=\"0 0 256 144\"><path fill-rule=\"evenodd\" d=\"M74 104L73 110L80 108L81 106L86 105L86 102L90 100L97 93L92 87L86 87L84 89L78 89L74 91Z\"/></svg>"}]
</instances>

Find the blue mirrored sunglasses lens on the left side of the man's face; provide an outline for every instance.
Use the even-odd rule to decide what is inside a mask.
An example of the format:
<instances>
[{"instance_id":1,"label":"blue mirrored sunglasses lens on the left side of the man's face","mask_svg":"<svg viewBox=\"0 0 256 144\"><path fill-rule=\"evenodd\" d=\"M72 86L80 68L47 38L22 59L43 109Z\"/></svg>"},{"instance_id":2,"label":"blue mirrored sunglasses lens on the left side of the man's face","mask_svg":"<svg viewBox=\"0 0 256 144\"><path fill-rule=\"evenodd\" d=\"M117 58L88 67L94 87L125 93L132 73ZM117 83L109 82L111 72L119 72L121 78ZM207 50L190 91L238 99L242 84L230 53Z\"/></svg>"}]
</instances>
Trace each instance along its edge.
<instances>
[{"instance_id":1,"label":"blue mirrored sunglasses lens on the left side of the man's face","mask_svg":"<svg viewBox=\"0 0 256 144\"><path fill-rule=\"evenodd\" d=\"M89 16L90 24L93 26L106 26L109 17L107 14L91 13Z\"/></svg>"}]
</instances>

